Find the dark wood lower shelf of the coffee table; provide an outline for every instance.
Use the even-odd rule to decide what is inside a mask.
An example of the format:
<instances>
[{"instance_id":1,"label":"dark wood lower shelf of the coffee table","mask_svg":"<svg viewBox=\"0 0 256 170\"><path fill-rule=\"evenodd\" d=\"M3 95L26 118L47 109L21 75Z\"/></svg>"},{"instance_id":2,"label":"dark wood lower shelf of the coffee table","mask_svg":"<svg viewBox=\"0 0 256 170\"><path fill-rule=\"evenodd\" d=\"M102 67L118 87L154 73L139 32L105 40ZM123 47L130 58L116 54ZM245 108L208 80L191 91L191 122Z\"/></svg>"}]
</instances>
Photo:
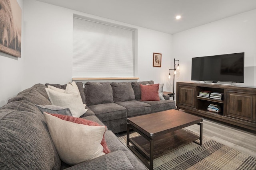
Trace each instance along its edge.
<instances>
[{"instance_id":1,"label":"dark wood lower shelf of the coffee table","mask_svg":"<svg viewBox=\"0 0 256 170\"><path fill-rule=\"evenodd\" d=\"M179 129L174 132L166 133L162 136L154 138L154 152L153 158L158 158L173 150L192 143L200 139L198 135L194 135L186 130ZM150 142L142 136L132 137L129 142L146 158L150 159ZM130 145L128 146L130 149ZM134 149L131 149L136 152Z\"/></svg>"}]
</instances>

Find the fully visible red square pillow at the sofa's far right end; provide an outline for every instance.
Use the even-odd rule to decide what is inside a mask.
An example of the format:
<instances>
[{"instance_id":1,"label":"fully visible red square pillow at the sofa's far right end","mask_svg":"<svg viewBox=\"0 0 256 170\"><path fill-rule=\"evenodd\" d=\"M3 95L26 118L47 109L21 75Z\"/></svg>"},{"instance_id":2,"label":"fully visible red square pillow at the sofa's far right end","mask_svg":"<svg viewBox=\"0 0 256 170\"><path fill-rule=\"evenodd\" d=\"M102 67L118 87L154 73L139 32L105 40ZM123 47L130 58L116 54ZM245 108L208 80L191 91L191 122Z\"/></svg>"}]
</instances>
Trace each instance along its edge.
<instances>
[{"instance_id":1,"label":"fully visible red square pillow at the sofa's far right end","mask_svg":"<svg viewBox=\"0 0 256 170\"><path fill-rule=\"evenodd\" d=\"M159 84L140 84L141 101L160 101L158 90Z\"/></svg>"}]
</instances>

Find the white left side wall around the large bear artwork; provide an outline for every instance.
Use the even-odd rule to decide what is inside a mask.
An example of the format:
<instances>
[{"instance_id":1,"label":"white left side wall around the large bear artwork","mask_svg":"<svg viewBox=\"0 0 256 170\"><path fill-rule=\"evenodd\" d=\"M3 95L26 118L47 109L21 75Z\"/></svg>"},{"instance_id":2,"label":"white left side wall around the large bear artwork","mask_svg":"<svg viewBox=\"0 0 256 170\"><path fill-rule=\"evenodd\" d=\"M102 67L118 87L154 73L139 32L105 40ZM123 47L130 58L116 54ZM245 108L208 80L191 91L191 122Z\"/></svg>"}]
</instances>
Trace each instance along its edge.
<instances>
[{"instance_id":1,"label":"white left side wall around the large bear artwork","mask_svg":"<svg viewBox=\"0 0 256 170\"><path fill-rule=\"evenodd\" d=\"M23 0L17 0L22 13L24 12ZM23 16L23 15L22 15ZM23 17L22 17L23 23ZM22 31L24 29L22 24ZM22 42L24 40L22 33ZM23 55L24 43L21 44L21 55ZM16 96L22 90L22 72L23 72L23 58L17 58L12 55L0 52L0 107L7 103L7 101Z\"/></svg>"}]
</instances>

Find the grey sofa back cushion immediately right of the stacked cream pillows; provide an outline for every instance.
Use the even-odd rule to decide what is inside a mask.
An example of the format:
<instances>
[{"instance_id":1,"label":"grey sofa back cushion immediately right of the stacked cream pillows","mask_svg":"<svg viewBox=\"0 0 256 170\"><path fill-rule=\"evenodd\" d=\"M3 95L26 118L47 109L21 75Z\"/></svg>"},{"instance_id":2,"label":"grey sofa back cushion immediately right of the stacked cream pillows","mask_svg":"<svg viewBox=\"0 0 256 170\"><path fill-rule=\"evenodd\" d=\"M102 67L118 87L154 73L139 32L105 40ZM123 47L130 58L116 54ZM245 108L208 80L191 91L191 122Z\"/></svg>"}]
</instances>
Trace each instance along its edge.
<instances>
[{"instance_id":1,"label":"grey sofa back cushion immediately right of the stacked cream pillows","mask_svg":"<svg viewBox=\"0 0 256 170\"><path fill-rule=\"evenodd\" d=\"M114 102L110 82L86 82L84 91L87 106Z\"/></svg>"}]
</instances>

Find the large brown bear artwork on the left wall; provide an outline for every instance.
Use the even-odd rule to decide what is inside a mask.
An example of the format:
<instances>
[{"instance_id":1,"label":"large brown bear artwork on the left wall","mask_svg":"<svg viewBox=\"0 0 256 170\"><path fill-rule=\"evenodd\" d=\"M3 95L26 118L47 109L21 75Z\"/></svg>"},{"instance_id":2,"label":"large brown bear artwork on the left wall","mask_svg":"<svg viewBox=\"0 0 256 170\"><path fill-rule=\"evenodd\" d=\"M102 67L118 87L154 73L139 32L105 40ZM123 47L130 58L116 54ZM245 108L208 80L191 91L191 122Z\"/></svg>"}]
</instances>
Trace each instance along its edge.
<instances>
[{"instance_id":1,"label":"large brown bear artwork on the left wall","mask_svg":"<svg viewBox=\"0 0 256 170\"><path fill-rule=\"evenodd\" d=\"M17 0L0 0L0 51L21 57L22 10Z\"/></svg>"}]
</instances>

